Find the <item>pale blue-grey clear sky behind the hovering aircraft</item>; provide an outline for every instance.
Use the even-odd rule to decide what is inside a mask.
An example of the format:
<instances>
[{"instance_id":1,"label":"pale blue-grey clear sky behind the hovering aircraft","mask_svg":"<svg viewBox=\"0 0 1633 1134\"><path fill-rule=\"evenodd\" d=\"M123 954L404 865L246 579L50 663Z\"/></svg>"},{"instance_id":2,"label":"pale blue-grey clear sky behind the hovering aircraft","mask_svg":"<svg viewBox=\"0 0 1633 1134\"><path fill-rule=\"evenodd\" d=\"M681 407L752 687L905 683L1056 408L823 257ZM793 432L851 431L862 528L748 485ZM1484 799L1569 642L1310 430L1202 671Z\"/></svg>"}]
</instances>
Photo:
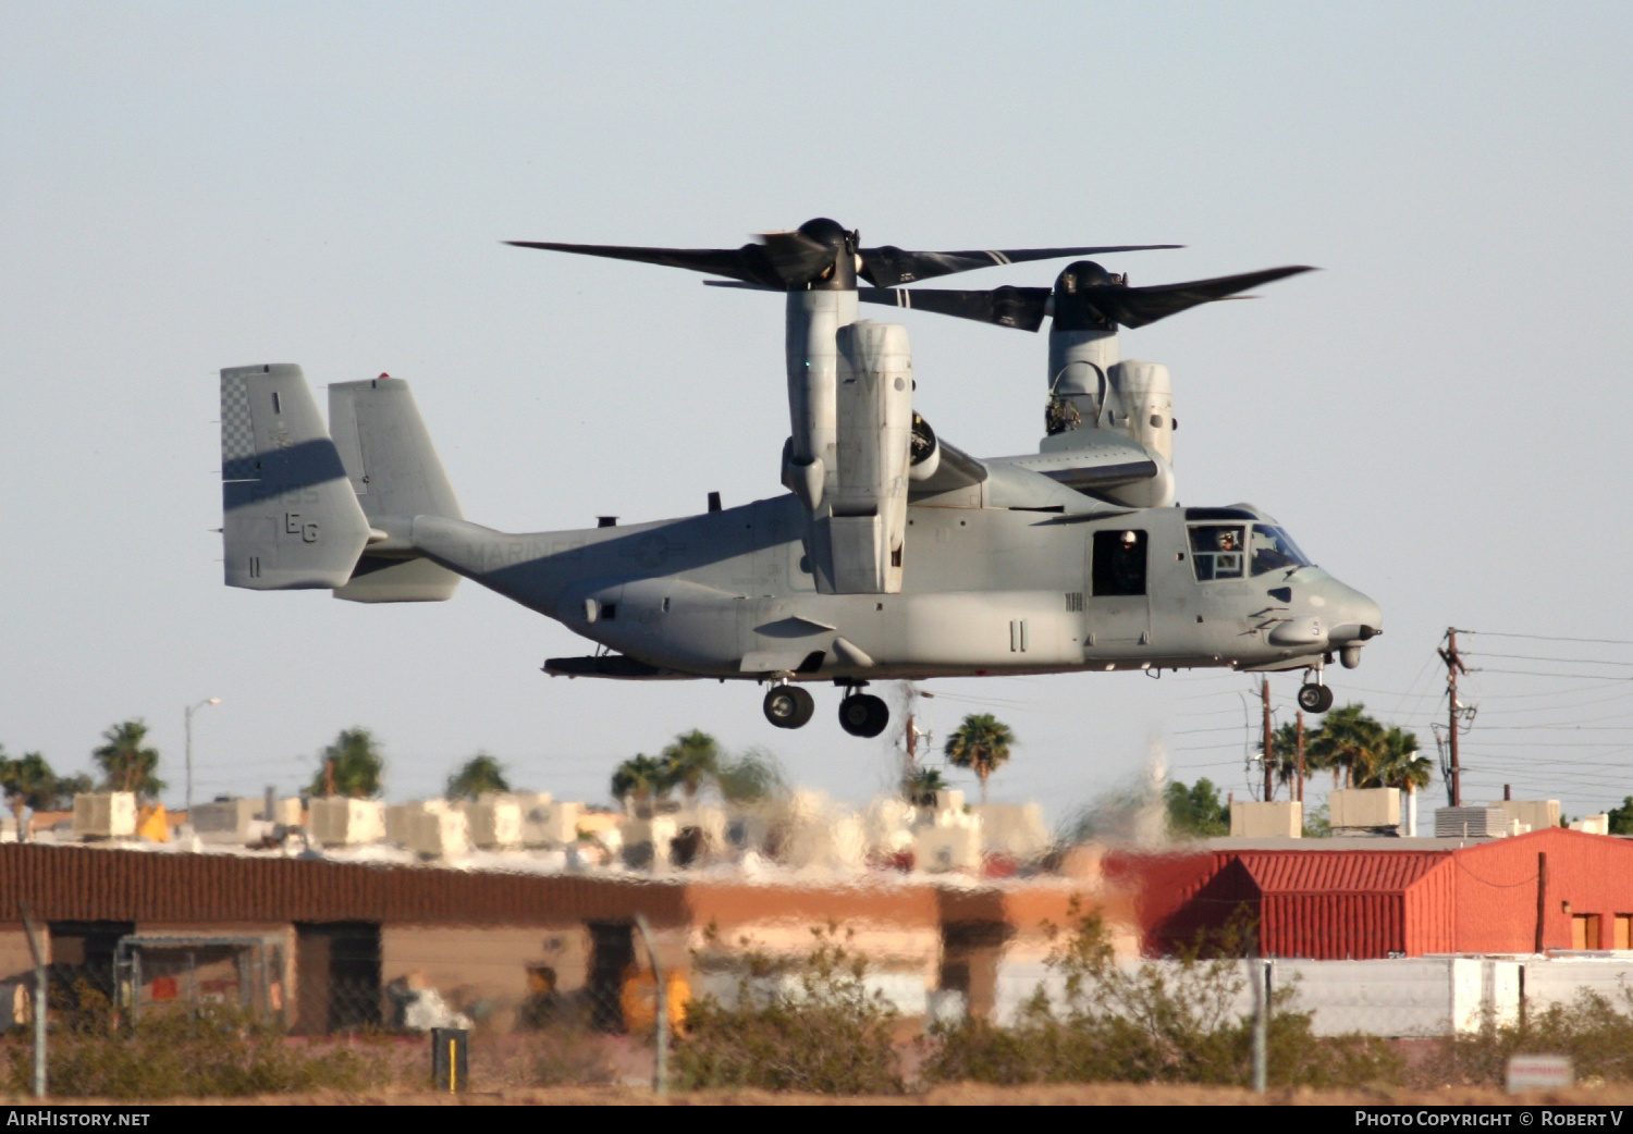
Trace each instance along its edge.
<instances>
[{"instance_id":1,"label":"pale blue-grey clear sky behind the hovering aircraft","mask_svg":"<svg viewBox=\"0 0 1633 1134\"><path fill-rule=\"evenodd\" d=\"M529 786L601 798L617 759L692 726L872 793L890 752L839 733L831 692L789 734L751 685L550 680L541 661L581 645L478 587L395 609L229 591L209 532L214 372L263 361L318 385L410 379L467 514L495 527L781 491L774 300L498 241L730 246L820 214L910 248L1187 245L1109 261L1135 282L1321 266L1124 352L1172 370L1182 501L1261 504L1382 602L1341 698L1421 728L1448 623L1633 640L1626 5L3 11L11 752L82 767L145 716L180 798L181 707L220 697L198 720L201 796L292 788L354 723L384 738L394 796L482 747ZM944 436L1035 449L1042 336L901 320ZM1243 790L1244 685L934 682L929 718L998 711L1022 746L994 791L1058 816L1151 734L1179 775ZM1584 813L1633 793L1633 684L1484 674L1479 692L1471 796L1512 780ZM1604 731L1481 731L1589 715Z\"/></svg>"}]
</instances>

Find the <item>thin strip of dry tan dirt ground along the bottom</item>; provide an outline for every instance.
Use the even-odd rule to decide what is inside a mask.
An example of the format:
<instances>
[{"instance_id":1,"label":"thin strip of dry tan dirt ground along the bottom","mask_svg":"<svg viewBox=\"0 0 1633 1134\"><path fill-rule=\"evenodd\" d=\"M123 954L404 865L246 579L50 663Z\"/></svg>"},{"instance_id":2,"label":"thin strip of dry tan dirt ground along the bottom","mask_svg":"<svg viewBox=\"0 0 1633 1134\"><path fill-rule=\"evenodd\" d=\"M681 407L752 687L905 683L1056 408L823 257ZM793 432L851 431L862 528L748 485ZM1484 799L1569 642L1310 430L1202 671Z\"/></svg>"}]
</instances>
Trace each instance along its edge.
<instances>
[{"instance_id":1,"label":"thin strip of dry tan dirt ground along the bottom","mask_svg":"<svg viewBox=\"0 0 1633 1134\"><path fill-rule=\"evenodd\" d=\"M31 1100L7 1098L13 1106ZM62 1100L83 1106L90 1100ZM167 1100L165 1105L261 1106L1617 1106L1633 1105L1633 1083L1577 1087L1561 1092L1506 1095L1491 1088L1447 1090L1282 1090L1254 1095L1239 1087L1174 1087L1084 1083L1063 1087L936 1087L923 1095L851 1096L777 1095L772 1092L696 1092L663 1100L634 1087L552 1087L470 1095L361 1092L356 1095L266 1095L260 1098ZM119 1103L132 1106L132 1103Z\"/></svg>"}]
</instances>

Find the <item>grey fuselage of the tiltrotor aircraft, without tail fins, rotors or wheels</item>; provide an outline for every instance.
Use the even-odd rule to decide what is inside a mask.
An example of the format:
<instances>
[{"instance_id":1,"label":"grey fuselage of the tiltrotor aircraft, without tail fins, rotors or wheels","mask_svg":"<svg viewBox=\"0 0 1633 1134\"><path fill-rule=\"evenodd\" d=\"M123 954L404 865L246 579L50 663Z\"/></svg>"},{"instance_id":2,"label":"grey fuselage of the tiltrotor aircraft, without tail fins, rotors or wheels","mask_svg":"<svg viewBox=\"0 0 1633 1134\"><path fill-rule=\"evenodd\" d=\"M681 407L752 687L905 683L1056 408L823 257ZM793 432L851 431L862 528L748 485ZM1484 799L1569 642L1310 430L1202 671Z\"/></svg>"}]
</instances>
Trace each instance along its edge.
<instances>
[{"instance_id":1,"label":"grey fuselage of the tiltrotor aircraft, without tail fins, rotors or wheels","mask_svg":"<svg viewBox=\"0 0 1633 1134\"><path fill-rule=\"evenodd\" d=\"M808 520L792 494L684 519L518 535L416 516L389 522L390 542L374 550L425 555L661 671L653 677L1293 669L1321 666L1382 628L1377 604L1316 566L1253 574L1239 555L1239 578L1199 579L1190 529L1235 529L1251 540L1254 524L1274 527L1256 509L1107 509L1070 489L1061 496L1081 504L911 506L900 594L818 592ZM1212 519L1187 522L1194 514ZM1096 594L1096 534L1143 543L1143 586L1102 579L1102 591L1124 592ZM1133 589L1143 594L1127 594Z\"/></svg>"}]
</instances>

